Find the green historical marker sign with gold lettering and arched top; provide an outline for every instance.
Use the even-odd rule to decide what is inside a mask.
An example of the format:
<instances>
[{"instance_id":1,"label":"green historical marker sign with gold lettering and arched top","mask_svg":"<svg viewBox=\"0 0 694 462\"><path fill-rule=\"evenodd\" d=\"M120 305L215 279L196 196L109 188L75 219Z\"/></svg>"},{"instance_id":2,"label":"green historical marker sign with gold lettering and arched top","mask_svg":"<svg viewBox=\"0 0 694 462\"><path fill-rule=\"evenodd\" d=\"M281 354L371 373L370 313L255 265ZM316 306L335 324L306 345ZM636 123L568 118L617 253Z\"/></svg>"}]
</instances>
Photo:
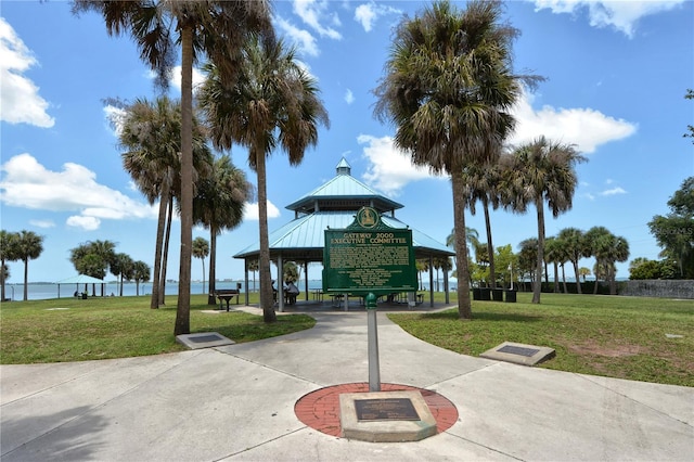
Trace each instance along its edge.
<instances>
[{"instance_id":1,"label":"green historical marker sign with gold lettering and arched top","mask_svg":"<svg viewBox=\"0 0 694 462\"><path fill-rule=\"evenodd\" d=\"M386 295L416 292L412 230L391 228L362 207L345 229L325 230L323 292Z\"/></svg>"}]
</instances>

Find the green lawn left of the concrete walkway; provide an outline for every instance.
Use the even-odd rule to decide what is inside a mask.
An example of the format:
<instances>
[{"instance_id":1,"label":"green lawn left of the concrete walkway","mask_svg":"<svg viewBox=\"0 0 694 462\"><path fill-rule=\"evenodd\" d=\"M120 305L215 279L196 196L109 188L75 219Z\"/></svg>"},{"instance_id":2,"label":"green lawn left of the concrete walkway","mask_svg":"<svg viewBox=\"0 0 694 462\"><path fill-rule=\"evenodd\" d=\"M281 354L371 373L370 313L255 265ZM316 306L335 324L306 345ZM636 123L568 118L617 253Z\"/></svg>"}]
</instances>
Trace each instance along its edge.
<instances>
[{"instance_id":1,"label":"green lawn left of the concrete walkway","mask_svg":"<svg viewBox=\"0 0 694 462\"><path fill-rule=\"evenodd\" d=\"M67 309L61 309L67 308ZM310 329L305 315L279 316L266 324L245 312L205 313L206 295L191 296L191 333L219 332L236 343ZM56 298L3 303L0 363L83 361L182 351L176 343L176 297L150 309L150 297Z\"/></svg>"}]
</instances>

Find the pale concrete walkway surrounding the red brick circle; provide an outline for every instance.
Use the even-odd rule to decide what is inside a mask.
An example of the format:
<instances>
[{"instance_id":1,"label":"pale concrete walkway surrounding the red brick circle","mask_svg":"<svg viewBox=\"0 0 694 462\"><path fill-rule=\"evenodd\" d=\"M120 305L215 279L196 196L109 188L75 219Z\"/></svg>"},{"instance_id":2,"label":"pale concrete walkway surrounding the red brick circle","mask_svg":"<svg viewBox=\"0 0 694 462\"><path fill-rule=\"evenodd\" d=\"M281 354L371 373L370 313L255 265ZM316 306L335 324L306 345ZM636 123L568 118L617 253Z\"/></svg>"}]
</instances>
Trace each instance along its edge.
<instances>
[{"instance_id":1,"label":"pale concrete walkway surrounding the red brick circle","mask_svg":"<svg viewBox=\"0 0 694 462\"><path fill-rule=\"evenodd\" d=\"M383 313L382 382L436 390L459 421L416 442L327 436L303 424L294 405L325 386L368 382L367 316L311 316L318 323L309 331L252 344L2 365L0 459L694 460L694 388L461 356Z\"/></svg>"}]
</instances>

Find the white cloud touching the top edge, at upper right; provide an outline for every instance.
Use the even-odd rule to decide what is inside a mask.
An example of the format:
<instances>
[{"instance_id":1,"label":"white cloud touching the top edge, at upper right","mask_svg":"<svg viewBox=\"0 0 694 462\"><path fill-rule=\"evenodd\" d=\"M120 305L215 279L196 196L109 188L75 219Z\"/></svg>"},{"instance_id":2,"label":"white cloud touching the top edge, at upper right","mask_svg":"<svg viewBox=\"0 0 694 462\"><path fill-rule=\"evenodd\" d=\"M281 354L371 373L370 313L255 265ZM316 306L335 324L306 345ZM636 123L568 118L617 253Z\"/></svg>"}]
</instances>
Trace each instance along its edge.
<instances>
[{"instance_id":1,"label":"white cloud touching the top edge, at upper right","mask_svg":"<svg viewBox=\"0 0 694 462\"><path fill-rule=\"evenodd\" d=\"M639 20L661 11L672 10L685 0L595 1L595 0L535 0L535 10L550 9L552 13L571 13L588 10L590 25L608 27L633 37Z\"/></svg>"}]
</instances>

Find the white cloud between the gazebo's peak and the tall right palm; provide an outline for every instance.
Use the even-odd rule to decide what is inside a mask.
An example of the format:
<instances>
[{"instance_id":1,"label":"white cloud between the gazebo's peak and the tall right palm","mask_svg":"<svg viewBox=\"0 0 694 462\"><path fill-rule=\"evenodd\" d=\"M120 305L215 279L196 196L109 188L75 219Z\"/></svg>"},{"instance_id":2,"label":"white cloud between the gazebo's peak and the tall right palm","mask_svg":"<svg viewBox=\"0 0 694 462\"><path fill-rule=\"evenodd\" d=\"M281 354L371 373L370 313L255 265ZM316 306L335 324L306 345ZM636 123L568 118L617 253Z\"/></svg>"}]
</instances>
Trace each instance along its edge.
<instances>
[{"instance_id":1,"label":"white cloud between the gazebo's peak and the tall right palm","mask_svg":"<svg viewBox=\"0 0 694 462\"><path fill-rule=\"evenodd\" d=\"M365 144L363 156L370 162L363 179L385 194L396 196L411 181L441 178L432 175L427 168L415 167L410 157L393 144L393 138L376 138L370 134L357 137L359 144Z\"/></svg>"}]
</instances>

